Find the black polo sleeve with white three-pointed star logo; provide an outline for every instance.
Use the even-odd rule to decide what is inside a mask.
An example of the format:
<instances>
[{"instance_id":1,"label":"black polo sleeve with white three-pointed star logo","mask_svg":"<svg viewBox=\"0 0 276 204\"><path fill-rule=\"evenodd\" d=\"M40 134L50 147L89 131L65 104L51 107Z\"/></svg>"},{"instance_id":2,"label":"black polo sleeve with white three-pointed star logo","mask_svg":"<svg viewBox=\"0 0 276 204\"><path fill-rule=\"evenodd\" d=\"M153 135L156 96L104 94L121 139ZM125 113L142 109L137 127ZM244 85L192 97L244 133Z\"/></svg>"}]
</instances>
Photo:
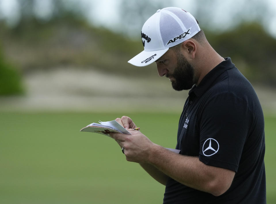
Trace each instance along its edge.
<instances>
[{"instance_id":1,"label":"black polo sleeve with white three-pointed star logo","mask_svg":"<svg viewBox=\"0 0 276 204\"><path fill-rule=\"evenodd\" d=\"M251 111L233 93L212 97L201 110L199 160L237 172L250 131Z\"/></svg>"}]
</instances>

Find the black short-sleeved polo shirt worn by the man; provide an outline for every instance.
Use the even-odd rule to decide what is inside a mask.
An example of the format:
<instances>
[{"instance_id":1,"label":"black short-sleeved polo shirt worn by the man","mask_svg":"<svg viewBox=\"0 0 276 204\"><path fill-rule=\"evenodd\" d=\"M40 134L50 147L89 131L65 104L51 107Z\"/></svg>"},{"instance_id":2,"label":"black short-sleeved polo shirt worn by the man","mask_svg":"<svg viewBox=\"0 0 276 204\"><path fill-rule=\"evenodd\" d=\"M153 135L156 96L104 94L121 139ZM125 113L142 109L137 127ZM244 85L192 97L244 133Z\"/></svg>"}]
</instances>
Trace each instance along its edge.
<instances>
[{"instance_id":1,"label":"black short-sleeved polo shirt worn by the man","mask_svg":"<svg viewBox=\"0 0 276 204\"><path fill-rule=\"evenodd\" d=\"M225 59L189 91L176 149L235 171L231 187L215 197L169 178L163 203L266 203L262 108L250 82Z\"/></svg>"}]
</instances>

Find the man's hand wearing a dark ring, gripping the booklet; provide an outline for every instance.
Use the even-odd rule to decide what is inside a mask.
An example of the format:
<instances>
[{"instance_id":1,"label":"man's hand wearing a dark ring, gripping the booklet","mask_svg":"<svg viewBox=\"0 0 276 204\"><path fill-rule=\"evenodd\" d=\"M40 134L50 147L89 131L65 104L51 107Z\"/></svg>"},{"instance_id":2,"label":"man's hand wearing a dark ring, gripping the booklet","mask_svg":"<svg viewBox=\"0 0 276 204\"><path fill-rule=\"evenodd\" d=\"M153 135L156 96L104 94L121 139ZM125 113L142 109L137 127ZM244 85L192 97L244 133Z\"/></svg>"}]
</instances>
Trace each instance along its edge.
<instances>
[{"instance_id":1,"label":"man's hand wearing a dark ring, gripping the booklet","mask_svg":"<svg viewBox=\"0 0 276 204\"><path fill-rule=\"evenodd\" d=\"M127 129L127 131L132 135L112 133L110 136L118 142L121 148L124 147L127 161L148 163L151 149L155 144L138 130Z\"/></svg>"}]
</instances>

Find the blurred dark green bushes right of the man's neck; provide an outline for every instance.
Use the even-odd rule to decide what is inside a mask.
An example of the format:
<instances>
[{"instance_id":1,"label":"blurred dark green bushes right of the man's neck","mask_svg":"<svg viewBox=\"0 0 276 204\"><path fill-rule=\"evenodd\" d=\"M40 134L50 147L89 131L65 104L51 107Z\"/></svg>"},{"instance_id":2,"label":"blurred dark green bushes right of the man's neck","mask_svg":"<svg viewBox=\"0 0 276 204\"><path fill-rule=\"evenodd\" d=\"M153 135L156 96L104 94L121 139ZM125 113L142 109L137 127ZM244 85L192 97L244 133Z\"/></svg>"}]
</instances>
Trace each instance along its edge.
<instances>
[{"instance_id":1,"label":"blurred dark green bushes right of the man's neck","mask_svg":"<svg viewBox=\"0 0 276 204\"><path fill-rule=\"evenodd\" d=\"M256 22L243 23L218 34L205 32L208 41L222 56L230 56L253 83L276 86L276 39Z\"/></svg>"}]
</instances>

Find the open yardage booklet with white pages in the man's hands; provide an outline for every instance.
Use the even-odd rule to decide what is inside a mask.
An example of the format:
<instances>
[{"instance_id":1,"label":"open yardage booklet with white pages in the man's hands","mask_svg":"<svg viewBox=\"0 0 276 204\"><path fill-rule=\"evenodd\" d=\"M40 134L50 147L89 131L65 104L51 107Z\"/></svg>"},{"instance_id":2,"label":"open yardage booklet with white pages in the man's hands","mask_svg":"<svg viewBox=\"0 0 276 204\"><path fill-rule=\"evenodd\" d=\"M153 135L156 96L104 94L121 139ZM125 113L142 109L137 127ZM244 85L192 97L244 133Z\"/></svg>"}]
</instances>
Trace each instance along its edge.
<instances>
[{"instance_id":1,"label":"open yardage booklet with white pages in the man's hands","mask_svg":"<svg viewBox=\"0 0 276 204\"><path fill-rule=\"evenodd\" d=\"M100 124L99 124L100 123ZM123 133L131 135L129 131L127 131L123 126L121 126L117 121L106 121L99 123L91 123L86 127L81 128L82 132L94 132L102 135L109 136L110 133ZM110 136L109 136L110 137Z\"/></svg>"}]
</instances>

